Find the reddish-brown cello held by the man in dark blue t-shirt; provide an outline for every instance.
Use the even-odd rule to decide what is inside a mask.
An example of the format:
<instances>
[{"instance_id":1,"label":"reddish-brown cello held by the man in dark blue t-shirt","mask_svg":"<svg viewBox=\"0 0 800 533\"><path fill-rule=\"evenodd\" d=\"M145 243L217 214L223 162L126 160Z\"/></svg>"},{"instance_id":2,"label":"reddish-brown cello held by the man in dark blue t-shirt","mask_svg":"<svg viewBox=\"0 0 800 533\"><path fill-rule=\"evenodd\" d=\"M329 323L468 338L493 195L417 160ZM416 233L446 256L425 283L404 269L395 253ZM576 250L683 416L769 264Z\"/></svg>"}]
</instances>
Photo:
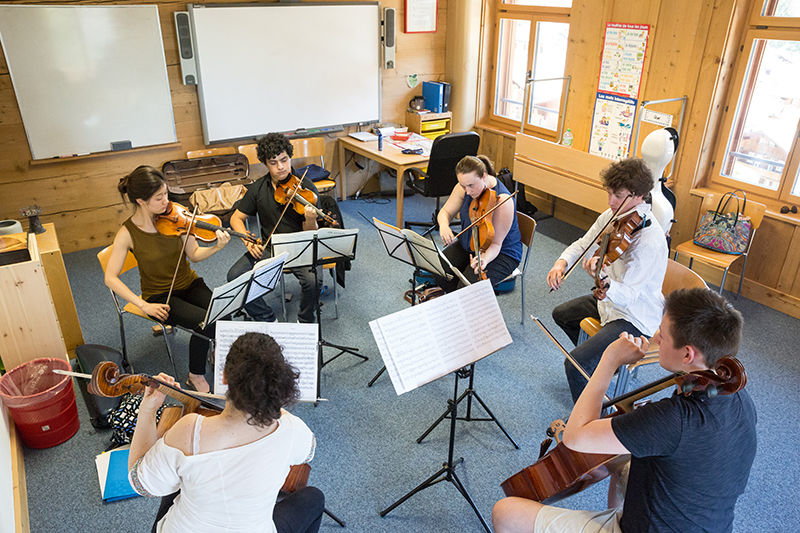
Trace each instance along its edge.
<instances>
[{"instance_id":1,"label":"reddish-brown cello held by the man in dark blue t-shirt","mask_svg":"<svg viewBox=\"0 0 800 533\"><path fill-rule=\"evenodd\" d=\"M603 408L617 408L617 412L610 416L630 412L637 400L671 385L677 385L677 393L685 396L702 391L709 396L716 396L734 394L746 384L747 374L742 363L735 357L723 357L713 370L667 376L614 398L606 402ZM534 464L503 481L500 487L506 496L551 504L605 479L622 467L628 458L627 454L576 452L559 442L555 448L543 453Z\"/></svg>"}]
</instances>

